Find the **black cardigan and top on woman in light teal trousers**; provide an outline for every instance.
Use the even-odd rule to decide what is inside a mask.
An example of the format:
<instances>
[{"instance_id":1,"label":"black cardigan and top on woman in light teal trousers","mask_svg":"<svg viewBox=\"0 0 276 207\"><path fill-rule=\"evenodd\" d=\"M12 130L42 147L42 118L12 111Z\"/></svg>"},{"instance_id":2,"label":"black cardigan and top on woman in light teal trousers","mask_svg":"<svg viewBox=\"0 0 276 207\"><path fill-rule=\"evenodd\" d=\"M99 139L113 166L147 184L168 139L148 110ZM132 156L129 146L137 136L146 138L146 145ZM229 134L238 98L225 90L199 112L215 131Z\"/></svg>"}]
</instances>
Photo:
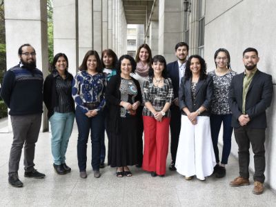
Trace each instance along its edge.
<instances>
[{"instance_id":1,"label":"black cardigan and top on woman in light teal trousers","mask_svg":"<svg viewBox=\"0 0 276 207\"><path fill-rule=\"evenodd\" d=\"M66 72L66 79L62 79L56 70L46 77L43 100L48 109L48 118L54 112L75 111L75 101L72 98L72 79L69 72Z\"/></svg>"}]
</instances>

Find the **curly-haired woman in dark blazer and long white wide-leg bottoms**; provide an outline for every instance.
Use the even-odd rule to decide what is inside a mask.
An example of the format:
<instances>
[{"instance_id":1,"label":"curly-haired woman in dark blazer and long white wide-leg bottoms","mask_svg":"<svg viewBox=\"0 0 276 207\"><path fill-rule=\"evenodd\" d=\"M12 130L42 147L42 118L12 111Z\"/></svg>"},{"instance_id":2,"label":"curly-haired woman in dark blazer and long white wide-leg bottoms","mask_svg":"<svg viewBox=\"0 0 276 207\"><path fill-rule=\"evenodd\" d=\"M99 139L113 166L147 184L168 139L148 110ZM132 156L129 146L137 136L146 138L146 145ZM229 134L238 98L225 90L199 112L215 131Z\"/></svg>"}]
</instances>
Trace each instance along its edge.
<instances>
[{"instance_id":1,"label":"curly-haired woman in dark blazer and long white wide-leg bottoms","mask_svg":"<svg viewBox=\"0 0 276 207\"><path fill-rule=\"evenodd\" d=\"M209 106L213 94L212 78L206 75L206 63L192 55L186 63L179 87L181 132L175 167L185 179L205 180L216 164L210 134Z\"/></svg>"}]
</instances>

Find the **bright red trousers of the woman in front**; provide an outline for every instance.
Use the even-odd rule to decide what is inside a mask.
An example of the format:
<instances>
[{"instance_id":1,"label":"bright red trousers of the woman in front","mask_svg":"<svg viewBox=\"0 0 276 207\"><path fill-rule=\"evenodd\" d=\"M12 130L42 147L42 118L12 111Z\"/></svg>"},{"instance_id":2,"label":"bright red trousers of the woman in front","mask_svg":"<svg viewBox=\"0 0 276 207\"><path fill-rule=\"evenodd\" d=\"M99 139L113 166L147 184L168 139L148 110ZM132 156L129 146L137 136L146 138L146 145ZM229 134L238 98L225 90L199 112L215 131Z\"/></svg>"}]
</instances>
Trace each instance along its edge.
<instances>
[{"instance_id":1,"label":"bright red trousers of the woman in front","mask_svg":"<svg viewBox=\"0 0 276 207\"><path fill-rule=\"evenodd\" d=\"M143 116L144 120L144 157L142 168L146 171L165 175L168 155L169 118L156 121L153 117Z\"/></svg>"}]
</instances>

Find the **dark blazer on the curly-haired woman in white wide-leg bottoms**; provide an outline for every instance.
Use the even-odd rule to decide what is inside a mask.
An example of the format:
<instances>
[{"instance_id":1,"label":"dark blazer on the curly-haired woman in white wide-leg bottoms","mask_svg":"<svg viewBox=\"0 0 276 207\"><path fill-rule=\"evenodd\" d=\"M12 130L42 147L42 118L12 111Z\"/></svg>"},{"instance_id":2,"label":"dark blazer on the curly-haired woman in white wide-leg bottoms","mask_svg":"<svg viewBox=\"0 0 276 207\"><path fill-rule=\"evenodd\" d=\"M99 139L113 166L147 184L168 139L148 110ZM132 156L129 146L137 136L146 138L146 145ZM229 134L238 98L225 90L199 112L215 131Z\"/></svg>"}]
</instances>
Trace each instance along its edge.
<instances>
[{"instance_id":1,"label":"dark blazer on the curly-haired woman in white wide-leg bottoms","mask_svg":"<svg viewBox=\"0 0 276 207\"><path fill-rule=\"evenodd\" d=\"M192 92L190 91L192 77L186 80L185 77L181 78L181 83L179 87L179 108L181 109L181 113L186 115L186 113L182 110L187 107L190 112L195 112L200 108L200 106L204 106L207 110L201 113L201 116L210 116L209 106L212 101L213 96L213 79L208 76L206 79L199 80L197 82L195 101L192 100Z\"/></svg>"}]
</instances>

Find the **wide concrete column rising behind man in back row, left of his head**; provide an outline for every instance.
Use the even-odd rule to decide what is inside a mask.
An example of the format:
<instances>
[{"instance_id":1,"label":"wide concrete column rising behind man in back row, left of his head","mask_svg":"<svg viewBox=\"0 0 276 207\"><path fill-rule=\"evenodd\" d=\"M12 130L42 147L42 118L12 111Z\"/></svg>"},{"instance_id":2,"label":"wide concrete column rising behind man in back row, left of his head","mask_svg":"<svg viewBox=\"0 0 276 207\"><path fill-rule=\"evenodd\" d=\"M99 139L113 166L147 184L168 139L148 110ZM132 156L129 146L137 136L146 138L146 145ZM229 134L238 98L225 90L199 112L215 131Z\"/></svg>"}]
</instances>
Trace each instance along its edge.
<instances>
[{"instance_id":1,"label":"wide concrete column rising behind man in back row, left of his head","mask_svg":"<svg viewBox=\"0 0 276 207\"><path fill-rule=\"evenodd\" d=\"M175 44L181 41L181 2L159 1L159 44L158 53L166 61L175 61Z\"/></svg>"}]
</instances>

